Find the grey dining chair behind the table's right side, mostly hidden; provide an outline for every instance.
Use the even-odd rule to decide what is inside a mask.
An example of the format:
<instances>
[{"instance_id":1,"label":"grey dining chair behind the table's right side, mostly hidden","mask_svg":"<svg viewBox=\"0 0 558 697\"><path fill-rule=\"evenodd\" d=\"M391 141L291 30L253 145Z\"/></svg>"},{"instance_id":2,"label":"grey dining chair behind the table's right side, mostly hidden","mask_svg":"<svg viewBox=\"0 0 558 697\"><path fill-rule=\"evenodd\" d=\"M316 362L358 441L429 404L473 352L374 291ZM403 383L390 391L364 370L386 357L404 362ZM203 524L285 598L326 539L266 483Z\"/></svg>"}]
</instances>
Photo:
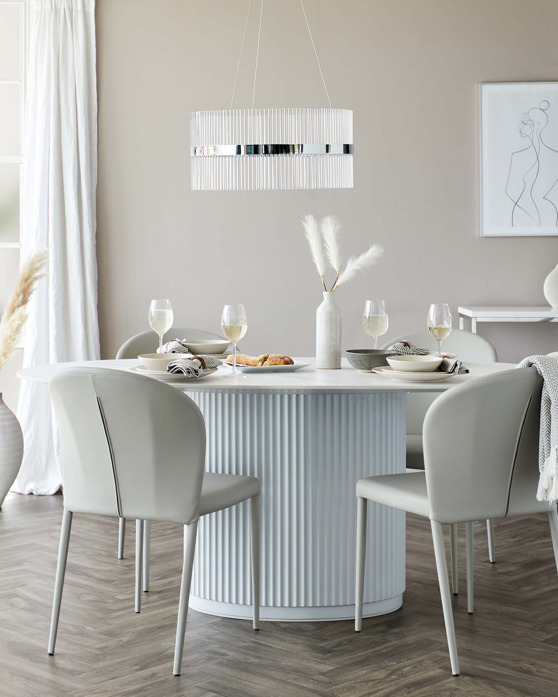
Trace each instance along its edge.
<instances>
[{"instance_id":1,"label":"grey dining chair behind the table's right side, mostly hidden","mask_svg":"<svg viewBox=\"0 0 558 697\"><path fill-rule=\"evenodd\" d=\"M424 346L432 351L438 350L437 341L427 329L418 332L407 332L400 337L395 337L386 342L382 348L388 348L392 344L400 341L409 341L416 346ZM443 351L457 353L459 358L467 366L467 361L478 363L494 363L498 360L496 349L490 342L483 337L479 337L472 332L454 329L451 334L444 339L442 344ZM423 470L423 421L428 411L428 407L438 397L432 393L415 393L407 395L407 468ZM494 523L486 521L486 531L488 535L488 558L493 563L496 561L494 549ZM458 592L458 528L451 526L450 533L450 552L451 552L451 587L454 595Z\"/></svg>"}]
</instances>

